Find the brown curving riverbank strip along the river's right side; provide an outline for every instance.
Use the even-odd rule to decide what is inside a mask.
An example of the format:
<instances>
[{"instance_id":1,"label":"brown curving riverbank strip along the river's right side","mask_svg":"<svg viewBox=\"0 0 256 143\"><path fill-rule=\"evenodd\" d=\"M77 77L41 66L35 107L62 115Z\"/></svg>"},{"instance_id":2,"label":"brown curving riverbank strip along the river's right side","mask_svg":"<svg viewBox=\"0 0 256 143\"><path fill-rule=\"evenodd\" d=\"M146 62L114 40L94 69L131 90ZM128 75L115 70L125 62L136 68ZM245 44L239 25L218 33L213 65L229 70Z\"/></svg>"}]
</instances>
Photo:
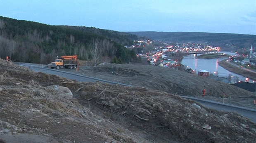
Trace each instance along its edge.
<instances>
[{"instance_id":1,"label":"brown curving riverbank strip along the river's right side","mask_svg":"<svg viewBox=\"0 0 256 143\"><path fill-rule=\"evenodd\" d=\"M244 77L248 77L249 79L252 79L256 81L256 74L251 71L247 71L245 69L242 69L241 67L236 67L228 62L226 60L222 60L218 62L218 64L223 67L224 69L227 69L228 71L234 72L236 74L242 75Z\"/></svg>"}]
</instances>

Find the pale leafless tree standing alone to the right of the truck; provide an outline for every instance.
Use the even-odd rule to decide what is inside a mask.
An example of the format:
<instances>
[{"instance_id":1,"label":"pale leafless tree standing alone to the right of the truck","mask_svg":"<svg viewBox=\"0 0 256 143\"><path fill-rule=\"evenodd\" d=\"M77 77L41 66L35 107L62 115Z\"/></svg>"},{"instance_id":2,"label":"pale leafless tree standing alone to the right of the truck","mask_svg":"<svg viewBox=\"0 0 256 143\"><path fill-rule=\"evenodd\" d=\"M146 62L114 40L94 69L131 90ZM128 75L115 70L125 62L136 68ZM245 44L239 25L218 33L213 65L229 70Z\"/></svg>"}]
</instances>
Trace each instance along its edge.
<instances>
[{"instance_id":1,"label":"pale leafless tree standing alone to the right of the truck","mask_svg":"<svg viewBox=\"0 0 256 143\"><path fill-rule=\"evenodd\" d=\"M89 50L92 55L92 60L94 62L94 67L96 67L97 62L99 62L99 59L101 58L101 44L100 44L100 39L92 39L90 44L89 44Z\"/></svg>"}]
</instances>

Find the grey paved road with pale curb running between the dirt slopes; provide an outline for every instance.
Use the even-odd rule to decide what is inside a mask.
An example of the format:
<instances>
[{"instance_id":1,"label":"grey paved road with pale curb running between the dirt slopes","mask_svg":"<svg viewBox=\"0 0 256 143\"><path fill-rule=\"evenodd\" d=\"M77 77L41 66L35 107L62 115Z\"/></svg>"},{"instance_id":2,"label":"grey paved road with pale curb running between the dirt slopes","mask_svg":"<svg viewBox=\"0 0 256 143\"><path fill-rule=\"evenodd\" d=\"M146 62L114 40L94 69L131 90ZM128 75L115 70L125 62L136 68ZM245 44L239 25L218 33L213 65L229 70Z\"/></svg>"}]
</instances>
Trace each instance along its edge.
<instances>
[{"instance_id":1,"label":"grey paved road with pale curb running between the dirt slopes","mask_svg":"<svg viewBox=\"0 0 256 143\"><path fill-rule=\"evenodd\" d=\"M55 69L48 69L48 68L43 68L43 66L41 65L25 65L24 66L28 66L28 67L32 67L34 71L36 72L43 72L46 74L56 74L59 76L63 76L65 78L69 78L69 79L76 79L79 82L95 82L95 81L101 81L101 82L105 82L105 83L110 83L110 84L120 84L120 83L115 83L115 82L111 82L111 81L105 81L102 79L98 79L98 78L92 78L89 76L82 76L79 74L72 74L72 73L68 73L68 72L64 72L64 71L59 71L59 70L55 70ZM121 85L125 85L125 84L121 84ZM131 86L131 85L125 85L125 86ZM213 108L216 110L223 110L223 111L235 111L237 113L240 113L242 115L244 115L245 117L249 118L251 121L256 123L256 110L254 109L248 109L248 108L243 108L243 107L238 107L238 106L232 106L232 105L228 105L228 104L222 104L219 102L214 102L214 101L207 101L207 100L203 100L203 99L197 99L197 98L193 98L193 97L186 97L183 96L184 98L187 99L192 99L194 101L199 102L200 104L209 107L209 108Z\"/></svg>"}]
</instances>

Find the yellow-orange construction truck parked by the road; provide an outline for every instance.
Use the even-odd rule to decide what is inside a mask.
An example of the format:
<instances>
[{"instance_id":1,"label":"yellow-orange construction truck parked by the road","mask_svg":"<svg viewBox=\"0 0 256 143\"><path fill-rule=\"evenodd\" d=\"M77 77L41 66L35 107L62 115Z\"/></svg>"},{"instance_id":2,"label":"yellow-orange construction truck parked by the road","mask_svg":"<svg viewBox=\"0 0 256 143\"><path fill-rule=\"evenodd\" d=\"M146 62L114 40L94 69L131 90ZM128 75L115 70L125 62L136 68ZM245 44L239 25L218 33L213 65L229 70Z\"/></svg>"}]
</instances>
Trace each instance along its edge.
<instances>
[{"instance_id":1,"label":"yellow-orange construction truck parked by the road","mask_svg":"<svg viewBox=\"0 0 256 143\"><path fill-rule=\"evenodd\" d=\"M76 69L79 65L77 62L77 55L62 55L61 58L58 58L55 60L55 62L52 62L50 67L52 69L56 68L67 68L67 69Z\"/></svg>"}]
</instances>

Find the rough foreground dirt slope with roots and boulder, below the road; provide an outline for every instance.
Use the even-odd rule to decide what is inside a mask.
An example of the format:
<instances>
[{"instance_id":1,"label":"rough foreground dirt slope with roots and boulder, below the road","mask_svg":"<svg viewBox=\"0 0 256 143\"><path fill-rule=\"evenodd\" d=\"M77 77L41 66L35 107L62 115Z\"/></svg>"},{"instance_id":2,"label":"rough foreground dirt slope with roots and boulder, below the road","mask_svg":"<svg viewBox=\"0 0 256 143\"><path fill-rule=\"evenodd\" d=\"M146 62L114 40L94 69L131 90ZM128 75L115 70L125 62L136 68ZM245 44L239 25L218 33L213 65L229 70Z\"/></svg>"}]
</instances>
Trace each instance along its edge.
<instances>
[{"instance_id":1,"label":"rough foreground dirt slope with roots and boulder, below the road","mask_svg":"<svg viewBox=\"0 0 256 143\"><path fill-rule=\"evenodd\" d=\"M161 77L151 72L121 71L135 74L131 74L133 76L151 76L154 81ZM121 71L116 70L117 76L122 74ZM146 81L147 78L141 80ZM179 86L181 83L173 87ZM161 89L168 91L166 87ZM243 94L236 93L239 96ZM0 59L0 143L255 141L256 124L237 113L216 111L145 87L80 83L35 73Z\"/></svg>"}]
</instances>

